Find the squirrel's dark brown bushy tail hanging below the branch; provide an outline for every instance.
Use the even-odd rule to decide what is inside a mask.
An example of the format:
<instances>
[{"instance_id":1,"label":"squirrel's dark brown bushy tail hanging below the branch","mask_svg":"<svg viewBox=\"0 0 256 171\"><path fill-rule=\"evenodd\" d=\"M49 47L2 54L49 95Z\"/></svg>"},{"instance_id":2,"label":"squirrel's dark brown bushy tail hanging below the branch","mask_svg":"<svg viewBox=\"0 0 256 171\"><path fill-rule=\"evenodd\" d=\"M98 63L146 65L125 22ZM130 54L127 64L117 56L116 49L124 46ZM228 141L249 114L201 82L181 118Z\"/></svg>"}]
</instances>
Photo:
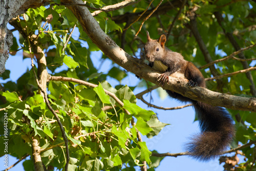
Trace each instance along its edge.
<instances>
[{"instance_id":1,"label":"squirrel's dark brown bushy tail hanging below the branch","mask_svg":"<svg viewBox=\"0 0 256 171\"><path fill-rule=\"evenodd\" d=\"M201 133L186 144L189 155L201 161L216 158L231 143L235 130L229 113L219 107L194 101Z\"/></svg>"}]
</instances>

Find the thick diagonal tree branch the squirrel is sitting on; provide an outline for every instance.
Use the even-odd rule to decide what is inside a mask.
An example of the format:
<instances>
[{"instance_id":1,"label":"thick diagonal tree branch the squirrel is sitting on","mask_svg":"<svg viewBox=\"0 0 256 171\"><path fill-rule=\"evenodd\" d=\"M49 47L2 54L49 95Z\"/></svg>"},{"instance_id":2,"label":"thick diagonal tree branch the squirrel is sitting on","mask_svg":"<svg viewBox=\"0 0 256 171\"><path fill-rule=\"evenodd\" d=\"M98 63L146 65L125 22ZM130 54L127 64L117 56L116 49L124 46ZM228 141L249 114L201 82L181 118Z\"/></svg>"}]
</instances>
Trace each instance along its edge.
<instances>
[{"instance_id":1,"label":"thick diagonal tree branch the squirrel is sitting on","mask_svg":"<svg viewBox=\"0 0 256 171\"><path fill-rule=\"evenodd\" d=\"M62 1L65 3L70 2L69 0ZM80 3L79 0L74 0L74 2ZM86 7L70 6L68 8L77 17L81 27L87 32L94 44L96 44L106 56L127 71L133 72L147 81L159 84L157 77L160 73L147 66L143 61L127 54L117 46L115 41L101 30L99 24ZM175 91L185 97L203 101L211 105L222 106L233 110L256 112L256 98L226 95L212 92L201 87L190 88L185 79L169 77L169 83L165 83L162 88Z\"/></svg>"}]
</instances>

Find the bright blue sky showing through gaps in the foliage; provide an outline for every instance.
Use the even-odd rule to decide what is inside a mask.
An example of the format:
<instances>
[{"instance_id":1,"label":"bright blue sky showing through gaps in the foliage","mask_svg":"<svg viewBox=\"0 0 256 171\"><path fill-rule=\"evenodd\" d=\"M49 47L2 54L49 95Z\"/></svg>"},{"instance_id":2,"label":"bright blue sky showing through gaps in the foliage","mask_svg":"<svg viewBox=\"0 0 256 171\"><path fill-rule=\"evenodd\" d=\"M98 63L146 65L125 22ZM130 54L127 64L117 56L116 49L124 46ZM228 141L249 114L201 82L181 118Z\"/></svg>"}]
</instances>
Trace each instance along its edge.
<instances>
[{"instance_id":1,"label":"bright blue sky showing through gaps in the foliage","mask_svg":"<svg viewBox=\"0 0 256 171\"><path fill-rule=\"evenodd\" d=\"M14 35L18 38L17 34L18 33L16 31ZM77 34L74 33L72 36L76 38ZM98 68L100 65L99 59L101 57L101 52L93 52L91 55L93 55L92 61L95 67ZM98 72L108 72L113 67L112 61L106 60L103 66L104 67L102 67ZM31 60L30 58L23 59L23 52L18 51L15 56L9 56L9 59L6 62L6 69L11 71L10 79L4 81L0 79L0 82L3 83L9 80L16 81L20 76L25 73L27 69L31 69ZM59 69L59 71L63 69L67 69L67 67L63 66L62 69ZM112 87L115 87L117 84L119 84L117 80L110 77L107 78L107 81L110 82ZM128 76L123 79L122 84L127 84L127 86L134 87L137 86L138 82L139 80L137 79L137 77L135 77L135 74L128 73ZM145 88L136 88L134 94L140 93L143 90L145 90ZM169 108L172 106L183 105L183 103L179 103L169 97L165 99L160 99L158 97L157 90L153 91L152 97L154 99L152 103L158 106ZM144 95L144 98L145 100L150 101L150 95ZM154 111L161 122L170 124L165 126L165 128L159 133L159 135L155 136L152 139L147 139L145 136L142 137L143 141L146 142L148 148L151 151L156 150L159 153L184 152L184 144L189 141L189 137L200 131L198 122L194 122L195 112L191 106L180 110L163 111L154 108L148 108L147 105L140 100L138 100L137 104L141 106L141 108ZM28 157L27 159L29 158L30 157ZM9 166L17 161L17 159L13 157L10 157L9 159ZM0 158L1 163L3 163L3 160L3 157ZM173 169L218 171L223 170L222 165L219 165L218 159L209 162L199 162L188 156L179 156L177 158L165 157L156 170L160 171ZM3 170L5 168L6 167L4 167L3 164L0 164L0 170ZM22 162L20 162L11 170L24 170Z\"/></svg>"}]
</instances>

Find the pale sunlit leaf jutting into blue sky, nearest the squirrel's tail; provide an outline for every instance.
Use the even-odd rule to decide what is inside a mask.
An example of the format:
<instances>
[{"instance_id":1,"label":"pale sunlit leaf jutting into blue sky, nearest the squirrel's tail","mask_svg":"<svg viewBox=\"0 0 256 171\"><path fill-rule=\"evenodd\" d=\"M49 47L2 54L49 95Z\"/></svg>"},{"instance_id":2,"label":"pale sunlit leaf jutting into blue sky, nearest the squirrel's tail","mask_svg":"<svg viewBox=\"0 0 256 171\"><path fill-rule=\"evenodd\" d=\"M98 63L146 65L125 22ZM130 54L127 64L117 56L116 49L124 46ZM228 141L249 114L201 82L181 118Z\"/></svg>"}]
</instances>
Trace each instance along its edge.
<instances>
[{"instance_id":1,"label":"pale sunlit leaf jutting into blue sky, nearest the squirrel's tail","mask_svg":"<svg viewBox=\"0 0 256 171\"><path fill-rule=\"evenodd\" d=\"M153 131L148 133L146 136L147 138L152 138L159 134L159 132L164 128L164 126L169 125L168 123L160 122L156 115L152 115L152 118L146 122Z\"/></svg>"}]
</instances>

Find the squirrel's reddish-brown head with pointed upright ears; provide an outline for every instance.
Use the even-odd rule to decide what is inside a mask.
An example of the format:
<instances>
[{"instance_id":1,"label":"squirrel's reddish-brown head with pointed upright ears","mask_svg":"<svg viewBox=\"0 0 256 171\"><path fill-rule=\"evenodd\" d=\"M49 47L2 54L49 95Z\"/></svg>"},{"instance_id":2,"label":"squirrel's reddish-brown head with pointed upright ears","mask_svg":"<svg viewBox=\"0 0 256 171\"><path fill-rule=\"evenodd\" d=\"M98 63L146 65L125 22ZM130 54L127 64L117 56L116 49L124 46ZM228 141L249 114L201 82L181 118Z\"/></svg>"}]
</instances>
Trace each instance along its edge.
<instances>
[{"instance_id":1,"label":"squirrel's reddish-brown head with pointed upright ears","mask_svg":"<svg viewBox=\"0 0 256 171\"><path fill-rule=\"evenodd\" d=\"M150 62L160 60L164 56L166 36L162 34L158 40L154 40L150 38L150 33L146 31L146 37L147 43L144 48L146 60Z\"/></svg>"}]
</instances>

